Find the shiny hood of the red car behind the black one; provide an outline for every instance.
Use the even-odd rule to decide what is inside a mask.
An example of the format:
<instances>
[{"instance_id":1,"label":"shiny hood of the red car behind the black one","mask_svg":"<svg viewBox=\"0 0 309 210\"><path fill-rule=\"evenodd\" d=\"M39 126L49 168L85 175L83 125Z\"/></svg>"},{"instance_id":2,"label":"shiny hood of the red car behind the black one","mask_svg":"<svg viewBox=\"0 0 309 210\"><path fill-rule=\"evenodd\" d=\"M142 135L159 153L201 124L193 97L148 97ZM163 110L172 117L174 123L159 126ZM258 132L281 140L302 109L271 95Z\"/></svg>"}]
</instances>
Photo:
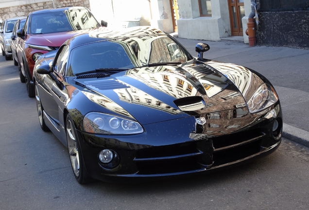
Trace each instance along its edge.
<instances>
[{"instance_id":1,"label":"shiny hood of the red car behind the black one","mask_svg":"<svg viewBox=\"0 0 309 210\"><path fill-rule=\"evenodd\" d=\"M52 34L27 34L26 43L48 47L60 47L70 37L82 33L81 31L69 31Z\"/></svg>"}]
</instances>

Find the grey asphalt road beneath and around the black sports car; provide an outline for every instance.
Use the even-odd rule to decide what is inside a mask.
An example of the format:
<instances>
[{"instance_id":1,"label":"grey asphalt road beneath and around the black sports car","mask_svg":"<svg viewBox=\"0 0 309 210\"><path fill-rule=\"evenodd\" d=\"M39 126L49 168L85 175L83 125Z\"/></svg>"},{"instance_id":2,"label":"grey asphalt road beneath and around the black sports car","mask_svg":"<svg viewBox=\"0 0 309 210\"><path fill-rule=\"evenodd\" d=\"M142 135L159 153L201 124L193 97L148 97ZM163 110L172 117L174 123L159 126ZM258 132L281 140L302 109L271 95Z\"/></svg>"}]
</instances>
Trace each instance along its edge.
<instances>
[{"instance_id":1,"label":"grey asphalt road beneath and around the black sports car","mask_svg":"<svg viewBox=\"0 0 309 210\"><path fill-rule=\"evenodd\" d=\"M213 56L220 58L220 52ZM230 56L221 60L232 62ZM288 80L275 85L292 88ZM40 129L34 98L28 98L17 67L4 56L0 56L0 90L0 210L309 209L309 149L286 139L268 157L213 174L80 185L67 149Z\"/></svg>"}]
</instances>

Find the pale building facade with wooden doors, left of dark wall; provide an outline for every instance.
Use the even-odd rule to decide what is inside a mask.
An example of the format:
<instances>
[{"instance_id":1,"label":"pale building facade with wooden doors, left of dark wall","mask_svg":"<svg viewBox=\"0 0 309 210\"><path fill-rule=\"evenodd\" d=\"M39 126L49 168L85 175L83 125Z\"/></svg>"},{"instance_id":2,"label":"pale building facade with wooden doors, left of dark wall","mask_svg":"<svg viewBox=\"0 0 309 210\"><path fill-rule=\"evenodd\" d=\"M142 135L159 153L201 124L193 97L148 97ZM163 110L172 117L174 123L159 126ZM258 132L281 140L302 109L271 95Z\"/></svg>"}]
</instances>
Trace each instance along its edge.
<instances>
[{"instance_id":1,"label":"pale building facade with wooden doors, left of dark wall","mask_svg":"<svg viewBox=\"0 0 309 210\"><path fill-rule=\"evenodd\" d=\"M112 25L151 25L180 38L220 41L231 35L248 43L251 0L89 0L91 11Z\"/></svg>"}]
</instances>

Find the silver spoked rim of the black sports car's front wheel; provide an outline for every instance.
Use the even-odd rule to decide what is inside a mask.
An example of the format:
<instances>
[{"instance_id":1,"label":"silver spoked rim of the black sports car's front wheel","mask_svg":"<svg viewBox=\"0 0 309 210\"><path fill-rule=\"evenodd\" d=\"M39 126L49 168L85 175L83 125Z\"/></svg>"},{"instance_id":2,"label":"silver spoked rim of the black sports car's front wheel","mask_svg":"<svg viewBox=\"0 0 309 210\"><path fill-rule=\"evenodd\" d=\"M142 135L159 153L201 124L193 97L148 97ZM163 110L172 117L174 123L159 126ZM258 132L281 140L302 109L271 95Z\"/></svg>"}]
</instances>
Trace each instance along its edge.
<instances>
[{"instance_id":1,"label":"silver spoked rim of the black sports car's front wheel","mask_svg":"<svg viewBox=\"0 0 309 210\"><path fill-rule=\"evenodd\" d=\"M75 176L78 177L79 171L80 171L79 154L78 154L78 148L77 148L74 128L70 120L67 121L66 128L67 128L69 157L70 157L73 172Z\"/></svg>"}]
</instances>

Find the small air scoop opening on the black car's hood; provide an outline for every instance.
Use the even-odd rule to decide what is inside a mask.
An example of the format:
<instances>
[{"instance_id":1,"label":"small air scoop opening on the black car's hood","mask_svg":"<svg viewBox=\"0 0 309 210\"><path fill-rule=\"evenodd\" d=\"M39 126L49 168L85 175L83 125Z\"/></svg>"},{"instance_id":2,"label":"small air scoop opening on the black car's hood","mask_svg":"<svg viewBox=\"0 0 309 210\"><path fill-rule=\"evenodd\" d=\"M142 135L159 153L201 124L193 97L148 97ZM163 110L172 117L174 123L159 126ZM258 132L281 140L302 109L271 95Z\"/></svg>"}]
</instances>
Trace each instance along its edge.
<instances>
[{"instance_id":1,"label":"small air scoop opening on the black car's hood","mask_svg":"<svg viewBox=\"0 0 309 210\"><path fill-rule=\"evenodd\" d=\"M174 101L174 104L182 111L196 111L206 106L201 96L189 96Z\"/></svg>"}]
</instances>

